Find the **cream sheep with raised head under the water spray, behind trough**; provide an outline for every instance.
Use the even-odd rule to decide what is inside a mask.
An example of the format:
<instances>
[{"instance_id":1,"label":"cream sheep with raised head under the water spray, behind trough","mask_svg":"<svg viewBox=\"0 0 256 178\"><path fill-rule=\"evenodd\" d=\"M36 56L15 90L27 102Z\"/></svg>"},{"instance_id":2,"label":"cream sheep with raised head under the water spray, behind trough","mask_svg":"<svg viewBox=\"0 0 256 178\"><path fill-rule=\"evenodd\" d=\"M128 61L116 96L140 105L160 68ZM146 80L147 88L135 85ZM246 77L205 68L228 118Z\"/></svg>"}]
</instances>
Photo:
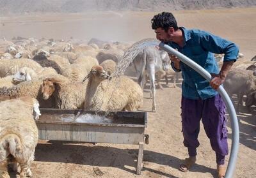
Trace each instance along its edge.
<instances>
[{"instance_id":1,"label":"cream sheep with raised head under the water spray, behind trough","mask_svg":"<svg viewBox=\"0 0 256 178\"><path fill-rule=\"evenodd\" d=\"M136 111L143 105L143 91L136 82L122 76L106 80L109 75L102 66L93 66L88 79L84 108L89 110Z\"/></svg>"}]
</instances>

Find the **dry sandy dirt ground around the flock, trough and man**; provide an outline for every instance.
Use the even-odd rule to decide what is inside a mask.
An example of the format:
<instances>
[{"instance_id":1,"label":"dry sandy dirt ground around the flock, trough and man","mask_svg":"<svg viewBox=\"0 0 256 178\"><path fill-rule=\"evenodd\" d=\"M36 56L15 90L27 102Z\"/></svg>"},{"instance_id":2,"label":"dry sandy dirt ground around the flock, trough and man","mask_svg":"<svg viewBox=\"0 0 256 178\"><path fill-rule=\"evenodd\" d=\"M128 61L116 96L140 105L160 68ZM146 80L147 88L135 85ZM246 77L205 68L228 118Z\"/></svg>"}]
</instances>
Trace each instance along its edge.
<instances>
[{"instance_id":1,"label":"dry sandy dirt ground around the flock, trough and man","mask_svg":"<svg viewBox=\"0 0 256 178\"><path fill-rule=\"evenodd\" d=\"M1 17L0 37L13 36L46 38L97 37L103 40L136 41L154 37L150 19L157 12L108 12L97 14L36 15L35 17ZM256 8L232 10L175 11L179 26L200 28L236 42L245 59L255 56ZM64 20L65 19L65 20ZM180 122L180 84L157 89L157 112L150 112L152 100L148 87L144 92L144 106L148 112L146 133L150 144L145 145L143 170L136 175L137 145L72 144L40 140L36 147L33 177L99 177L93 167L99 167L102 177L214 177L215 155L202 127L198 161L188 173L177 168L186 158L182 144ZM236 100L236 98L234 98ZM255 177L256 110L238 114L240 126L239 155L234 177ZM228 144L231 128L228 121ZM228 161L228 157L227 157Z\"/></svg>"}]
</instances>

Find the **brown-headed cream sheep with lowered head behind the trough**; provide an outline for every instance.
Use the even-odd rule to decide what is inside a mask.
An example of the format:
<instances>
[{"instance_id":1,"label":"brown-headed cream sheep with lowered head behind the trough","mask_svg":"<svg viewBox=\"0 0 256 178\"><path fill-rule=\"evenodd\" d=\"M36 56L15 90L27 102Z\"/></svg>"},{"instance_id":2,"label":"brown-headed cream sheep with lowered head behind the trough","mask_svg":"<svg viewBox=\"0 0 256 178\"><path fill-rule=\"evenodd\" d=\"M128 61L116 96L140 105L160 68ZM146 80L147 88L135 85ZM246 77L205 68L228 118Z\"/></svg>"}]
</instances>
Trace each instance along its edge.
<instances>
[{"instance_id":1,"label":"brown-headed cream sheep with lowered head behind the trough","mask_svg":"<svg viewBox=\"0 0 256 178\"><path fill-rule=\"evenodd\" d=\"M55 108L78 109L84 107L86 87L81 82L67 82L58 78L45 78L42 85L42 98L54 97Z\"/></svg>"}]
</instances>

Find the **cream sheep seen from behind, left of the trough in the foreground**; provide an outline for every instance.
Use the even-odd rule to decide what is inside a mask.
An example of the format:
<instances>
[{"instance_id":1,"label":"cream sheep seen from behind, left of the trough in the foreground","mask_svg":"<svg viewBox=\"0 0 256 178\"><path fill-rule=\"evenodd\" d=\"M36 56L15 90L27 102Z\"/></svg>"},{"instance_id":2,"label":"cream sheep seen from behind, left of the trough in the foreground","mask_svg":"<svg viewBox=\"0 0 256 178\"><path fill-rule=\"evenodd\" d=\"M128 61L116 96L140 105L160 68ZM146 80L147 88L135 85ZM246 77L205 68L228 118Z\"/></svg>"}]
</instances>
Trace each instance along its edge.
<instances>
[{"instance_id":1,"label":"cream sheep seen from behind, left of the trough in the foreground","mask_svg":"<svg viewBox=\"0 0 256 178\"><path fill-rule=\"evenodd\" d=\"M38 142L35 120L40 115L34 98L18 98L0 102L0 177L10 177L8 164L13 164L20 177L31 177L30 166Z\"/></svg>"}]
</instances>

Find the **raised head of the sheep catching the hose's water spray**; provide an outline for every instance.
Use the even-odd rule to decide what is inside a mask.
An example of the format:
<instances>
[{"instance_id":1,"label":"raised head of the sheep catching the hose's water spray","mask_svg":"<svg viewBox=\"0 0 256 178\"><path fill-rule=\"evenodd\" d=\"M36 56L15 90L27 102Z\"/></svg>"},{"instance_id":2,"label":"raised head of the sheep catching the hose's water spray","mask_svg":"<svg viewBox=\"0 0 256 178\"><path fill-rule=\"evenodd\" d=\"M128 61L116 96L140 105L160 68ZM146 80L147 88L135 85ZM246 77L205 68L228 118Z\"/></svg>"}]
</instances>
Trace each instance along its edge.
<instances>
[{"instance_id":1,"label":"raised head of the sheep catching the hose's water spray","mask_svg":"<svg viewBox=\"0 0 256 178\"><path fill-rule=\"evenodd\" d=\"M93 66L90 73L84 78L83 82L87 78L92 78L95 82L101 82L102 80L109 79L108 73L102 68L102 66Z\"/></svg>"}]
</instances>

